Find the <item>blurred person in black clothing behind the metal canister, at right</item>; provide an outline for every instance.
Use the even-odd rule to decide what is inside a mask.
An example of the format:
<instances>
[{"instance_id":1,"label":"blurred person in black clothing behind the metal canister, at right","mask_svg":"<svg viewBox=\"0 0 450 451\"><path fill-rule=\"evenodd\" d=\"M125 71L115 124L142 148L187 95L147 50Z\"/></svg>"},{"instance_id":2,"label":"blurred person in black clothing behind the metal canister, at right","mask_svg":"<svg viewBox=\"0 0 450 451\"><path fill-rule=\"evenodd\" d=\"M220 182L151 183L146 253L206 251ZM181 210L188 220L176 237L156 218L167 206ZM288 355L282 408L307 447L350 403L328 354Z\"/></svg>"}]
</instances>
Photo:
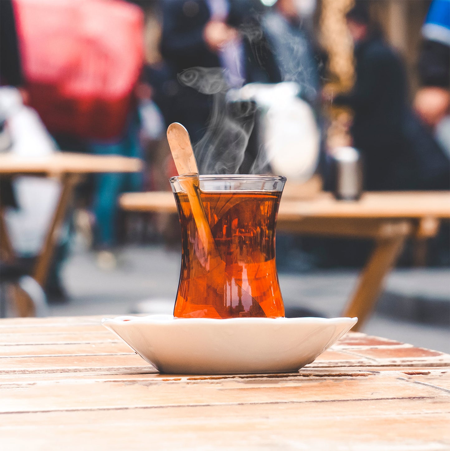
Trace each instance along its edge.
<instances>
[{"instance_id":1,"label":"blurred person in black clothing behind the metal canister, at right","mask_svg":"<svg viewBox=\"0 0 450 451\"><path fill-rule=\"evenodd\" d=\"M363 155L365 188L445 189L448 159L408 105L400 57L382 39L365 2L357 0L346 19L355 42L356 81L334 103L354 111L350 131Z\"/></svg>"}]
</instances>

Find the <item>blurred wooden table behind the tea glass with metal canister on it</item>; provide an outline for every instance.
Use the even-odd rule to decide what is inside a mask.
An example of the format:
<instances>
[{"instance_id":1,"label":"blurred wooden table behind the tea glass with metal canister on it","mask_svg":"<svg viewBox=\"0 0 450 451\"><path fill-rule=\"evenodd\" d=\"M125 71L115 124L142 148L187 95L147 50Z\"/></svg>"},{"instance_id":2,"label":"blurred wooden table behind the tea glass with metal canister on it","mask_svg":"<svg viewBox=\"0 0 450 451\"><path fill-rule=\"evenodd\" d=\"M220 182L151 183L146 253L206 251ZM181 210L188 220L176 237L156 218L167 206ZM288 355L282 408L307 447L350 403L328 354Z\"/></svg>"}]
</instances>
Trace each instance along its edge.
<instances>
[{"instance_id":1,"label":"blurred wooden table behind the tea glass with metal canister on it","mask_svg":"<svg viewBox=\"0 0 450 451\"><path fill-rule=\"evenodd\" d=\"M125 193L120 205L132 211L177 211L170 192ZM364 193L358 202L336 201L330 193L320 193L309 200L296 200L291 195L282 197L277 231L375 241L343 312L343 316L359 318L354 327L359 330L373 310L383 281L395 265L405 239L414 236L425 241L436 235L442 219L449 218L449 192Z\"/></svg>"}]
</instances>

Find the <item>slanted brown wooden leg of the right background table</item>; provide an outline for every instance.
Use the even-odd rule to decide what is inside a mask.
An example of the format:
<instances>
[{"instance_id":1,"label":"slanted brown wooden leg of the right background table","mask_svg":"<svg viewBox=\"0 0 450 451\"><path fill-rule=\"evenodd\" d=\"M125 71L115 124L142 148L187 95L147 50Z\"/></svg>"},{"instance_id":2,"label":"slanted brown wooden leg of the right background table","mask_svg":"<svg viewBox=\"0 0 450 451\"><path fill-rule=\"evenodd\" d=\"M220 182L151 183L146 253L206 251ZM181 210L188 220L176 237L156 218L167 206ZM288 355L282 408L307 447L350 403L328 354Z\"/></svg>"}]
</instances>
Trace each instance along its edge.
<instances>
[{"instance_id":1,"label":"slanted brown wooden leg of the right background table","mask_svg":"<svg viewBox=\"0 0 450 451\"><path fill-rule=\"evenodd\" d=\"M375 249L359 276L355 293L343 313L345 317L358 317L354 331L363 327L375 307L385 276L394 267L405 244L405 238L403 235L377 239Z\"/></svg>"}]
</instances>

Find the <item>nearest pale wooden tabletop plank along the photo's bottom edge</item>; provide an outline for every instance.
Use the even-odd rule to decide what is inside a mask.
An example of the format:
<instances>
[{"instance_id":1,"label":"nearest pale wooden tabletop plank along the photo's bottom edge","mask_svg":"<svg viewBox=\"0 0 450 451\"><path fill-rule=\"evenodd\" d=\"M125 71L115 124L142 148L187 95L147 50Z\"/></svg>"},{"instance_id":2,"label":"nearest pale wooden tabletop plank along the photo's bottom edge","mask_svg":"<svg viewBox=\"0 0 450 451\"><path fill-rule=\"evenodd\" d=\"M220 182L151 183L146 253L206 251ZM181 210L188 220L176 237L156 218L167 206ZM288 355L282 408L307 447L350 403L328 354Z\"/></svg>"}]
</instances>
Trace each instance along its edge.
<instances>
[{"instance_id":1,"label":"nearest pale wooden tabletop plank along the photo's bottom edge","mask_svg":"<svg viewBox=\"0 0 450 451\"><path fill-rule=\"evenodd\" d=\"M447 407L446 407L447 406ZM428 399L182 406L1 416L6 450L395 450L450 446L448 404ZM64 424L57 428L53 425Z\"/></svg>"}]
</instances>

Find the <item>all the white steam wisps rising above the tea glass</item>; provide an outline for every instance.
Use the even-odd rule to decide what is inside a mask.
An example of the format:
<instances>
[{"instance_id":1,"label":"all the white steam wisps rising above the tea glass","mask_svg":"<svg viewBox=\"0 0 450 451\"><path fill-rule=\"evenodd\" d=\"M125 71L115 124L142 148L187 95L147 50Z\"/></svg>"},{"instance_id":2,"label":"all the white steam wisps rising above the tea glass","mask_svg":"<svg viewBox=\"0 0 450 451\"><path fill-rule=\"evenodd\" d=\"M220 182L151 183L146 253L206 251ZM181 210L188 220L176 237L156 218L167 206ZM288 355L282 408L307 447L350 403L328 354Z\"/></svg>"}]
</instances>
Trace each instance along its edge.
<instances>
[{"instance_id":1,"label":"all the white steam wisps rising above the tea glass","mask_svg":"<svg viewBox=\"0 0 450 451\"><path fill-rule=\"evenodd\" d=\"M267 52L271 51L277 60L282 80L297 83L300 85L302 97L313 103L316 101L318 74L317 68L310 64L311 60L314 61L314 56L310 53L306 35L304 39L296 38L290 32L286 32L279 18L271 16L246 23L239 28L239 32L241 37L250 43L257 64L264 67ZM299 64L299 61L305 63ZM199 142L193 144L200 174L238 173L246 156L250 135L254 130L256 105L270 107L271 103L278 102L279 114L283 108L281 97L277 97L280 92L276 92L276 89L270 90L270 99L266 99L268 101L264 104L258 96L245 95L246 87L251 85L230 91L227 84L227 69L217 67L192 67L178 74L178 80L184 86L212 96L212 109L206 133ZM274 110L272 112L274 113ZM296 124L293 126L297 128ZM264 143L260 144L259 149L253 150L257 154L251 156L253 162L249 172L253 174L267 172L270 169L271 156L268 155Z\"/></svg>"}]
</instances>

